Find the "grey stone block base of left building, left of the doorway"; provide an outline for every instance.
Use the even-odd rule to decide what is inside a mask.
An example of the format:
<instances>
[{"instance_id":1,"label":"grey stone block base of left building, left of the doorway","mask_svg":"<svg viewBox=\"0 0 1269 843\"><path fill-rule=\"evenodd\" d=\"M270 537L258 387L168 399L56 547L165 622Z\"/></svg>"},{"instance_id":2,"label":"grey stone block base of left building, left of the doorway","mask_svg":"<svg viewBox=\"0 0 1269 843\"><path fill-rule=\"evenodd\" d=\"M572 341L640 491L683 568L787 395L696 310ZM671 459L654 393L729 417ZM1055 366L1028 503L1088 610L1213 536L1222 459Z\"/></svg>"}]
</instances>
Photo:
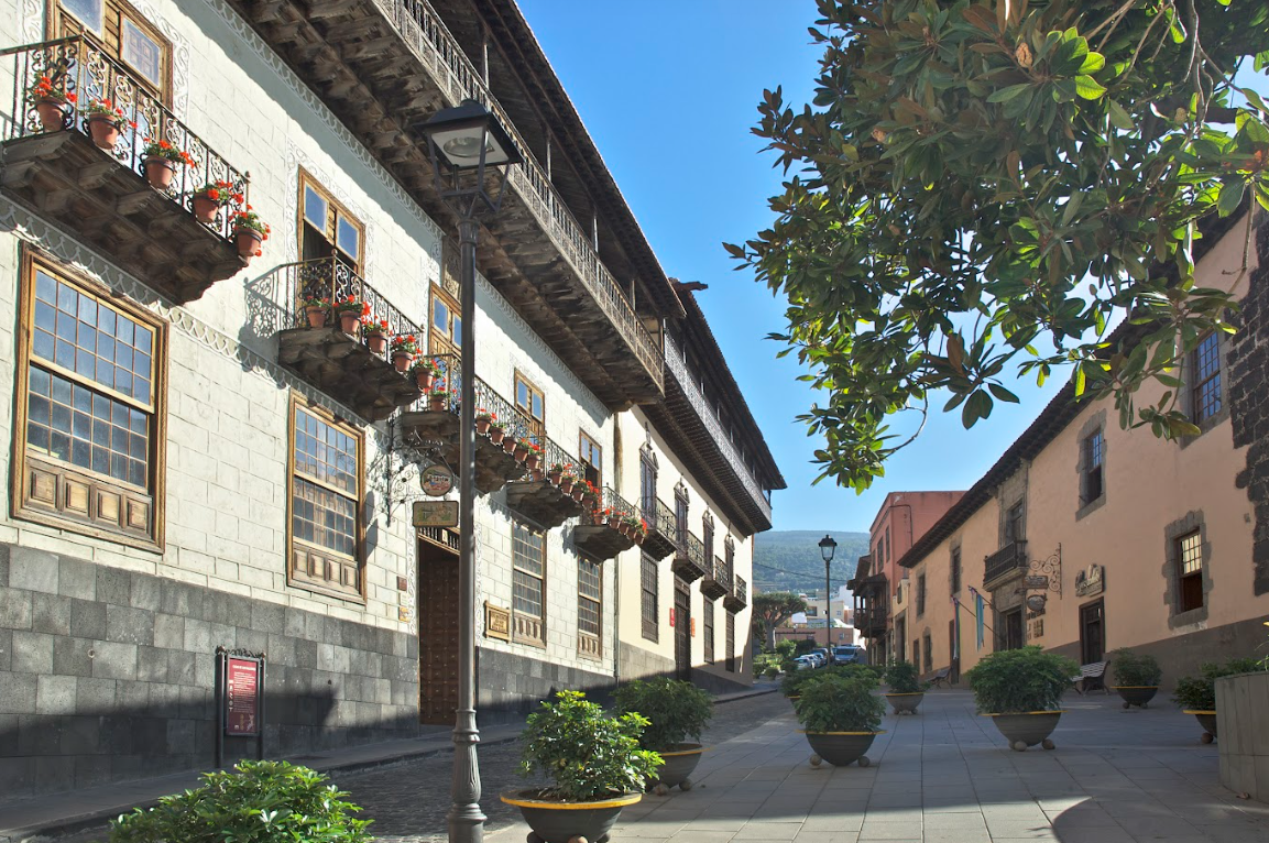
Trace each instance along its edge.
<instances>
[{"instance_id":1,"label":"grey stone block base of left building, left of the doorway","mask_svg":"<svg viewBox=\"0 0 1269 843\"><path fill-rule=\"evenodd\" d=\"M217 646L268 653L266 755L420 734L410 635L0 545L0 793L209 767Z\"/></svg>"}]
</instances>

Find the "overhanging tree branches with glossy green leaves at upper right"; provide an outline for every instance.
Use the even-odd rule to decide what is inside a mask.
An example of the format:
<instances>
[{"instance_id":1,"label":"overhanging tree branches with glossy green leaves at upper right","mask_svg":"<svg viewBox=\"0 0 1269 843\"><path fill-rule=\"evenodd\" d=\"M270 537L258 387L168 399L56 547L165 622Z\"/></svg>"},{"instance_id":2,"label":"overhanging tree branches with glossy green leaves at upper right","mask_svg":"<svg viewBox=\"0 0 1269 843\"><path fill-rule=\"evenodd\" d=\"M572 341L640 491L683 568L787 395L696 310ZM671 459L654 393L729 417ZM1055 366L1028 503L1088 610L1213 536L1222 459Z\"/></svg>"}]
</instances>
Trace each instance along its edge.
<instances>
[{"instance_id":1,"label":"overhanging tree branches with glossy green leaves at upper right","mask_svg":"<svg viewBox=\"0 0 1269 843\"><path fill-rule=\"evenodd\" d=\"M931 397L968 428L1014 376L1071 367L1124 427L1194 433L1179 361L1232 331L1194 282L1199 223L1269 208L1263 0L819 0L813 103L764 93L775 222L725 244L788 300L786 343L826 400L817 482L858 491ZM1131 330L1110 325L1127 316ZM1128 334L1129 336L1124 336ZM1155 380L1166 390L1138 402ZM935 395L942 392L943 395ZM917 433L920 428L917 427Z\"/></svg>"}]
</instances>

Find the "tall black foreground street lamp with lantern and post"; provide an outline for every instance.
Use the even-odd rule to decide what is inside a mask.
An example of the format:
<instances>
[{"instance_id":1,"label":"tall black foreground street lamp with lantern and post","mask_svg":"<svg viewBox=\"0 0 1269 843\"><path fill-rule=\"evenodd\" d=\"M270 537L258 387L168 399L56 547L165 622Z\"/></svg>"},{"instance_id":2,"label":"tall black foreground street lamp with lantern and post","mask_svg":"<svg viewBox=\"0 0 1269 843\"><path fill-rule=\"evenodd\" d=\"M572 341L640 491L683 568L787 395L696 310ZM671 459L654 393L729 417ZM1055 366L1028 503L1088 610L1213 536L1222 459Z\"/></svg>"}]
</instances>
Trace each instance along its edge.
<instances>
[{"instance_id":1,"label":"tall black foreground street lamp with lantern and post","mask_svg":"<svg viewBox=\"0 0 1269 843\"><path fill-rule=\"evenodd\" d=\"M458 404L458 712L454 719L454 777L450 786L450 843L481 843L480 763L476 744L476 240L477 215L496 213L510 179L523 163L497 118L476 100L444 108L416 127L426 138L437 189L458 217L459 312L463 320ZM489 170L501 174L496 193Z\"/></svg>"}]
</instances>

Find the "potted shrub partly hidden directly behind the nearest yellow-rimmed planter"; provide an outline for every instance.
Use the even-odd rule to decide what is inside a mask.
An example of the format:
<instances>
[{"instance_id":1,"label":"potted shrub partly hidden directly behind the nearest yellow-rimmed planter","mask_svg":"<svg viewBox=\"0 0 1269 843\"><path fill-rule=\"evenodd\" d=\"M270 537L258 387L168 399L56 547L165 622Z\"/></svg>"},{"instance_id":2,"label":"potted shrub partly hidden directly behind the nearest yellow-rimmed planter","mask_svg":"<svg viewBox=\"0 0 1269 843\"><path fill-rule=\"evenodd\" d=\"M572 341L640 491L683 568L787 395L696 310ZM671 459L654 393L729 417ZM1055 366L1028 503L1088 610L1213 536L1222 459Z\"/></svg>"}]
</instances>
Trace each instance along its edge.
<instances>
[{"instance_id":1,"label":"potted shrub partly hidden directly behind the nearest yellow-rimmed planter","mask_svg":"<svg viewBox=\"0 0 1269 843\"><path fill-rule=\"evenodd\" d=\"M713 700L690 682L660 677L646 682L634 679L613 694L618 714L638 712L648 725L640 736L640 745L665 760L648 785L659 796L671 787L692 790L692 771L700 762L700 733L713 716Z\"/></svg>"}]
</instances>

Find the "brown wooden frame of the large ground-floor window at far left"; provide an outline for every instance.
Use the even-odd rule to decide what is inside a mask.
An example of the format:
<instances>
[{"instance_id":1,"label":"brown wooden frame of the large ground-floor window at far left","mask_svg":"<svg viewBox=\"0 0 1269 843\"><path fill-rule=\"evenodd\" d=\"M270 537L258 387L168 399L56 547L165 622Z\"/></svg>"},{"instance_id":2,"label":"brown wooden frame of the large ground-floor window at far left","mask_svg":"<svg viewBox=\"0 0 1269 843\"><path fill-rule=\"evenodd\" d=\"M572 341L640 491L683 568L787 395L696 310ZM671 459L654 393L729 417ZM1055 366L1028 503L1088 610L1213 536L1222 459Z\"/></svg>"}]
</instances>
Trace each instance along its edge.
<instances>
[{"instance_id":1,"label":"brown wooden frame of the large ground-floor window at far left","mask_svg":"<svg viewBox=\"0 0 1269 843\"><path fill-rule=\"evenodd\" d=\"M150 416L150 451L148 477L145 494L138 494L132 484L121 482L113 477L103 477L100 474L63 462L52 456L27 452L27 408L29 404L30 366L33 364L34 343L34 312L36 312L36 273L42 270L57 281L74 287L80 295L95 300L98 307L105 306L117 314L140 322L154 331L151 340L150 359L152 371L150 378L151 399L148 408L141 408ZM168 446L168 324L151 311L140 305L118 296L109 288L96 283L75 272L62 263L53 260L44 254L36 254L28 248L23 248L19 256L19 319L18 319L18 348L16 371L14 372L14 427L13 427L13 465L10 474L10 514L15 519L46 524L66 529L81 536L90 536L109 542L138 547L141 550L162 552L165 548L164 528L166 523L166 446ZM46 363L43 358L37 363L42 369L62 376L75 383L81 383L86 388L113 397L117 394L95 381L86 380L75 372L69 372L56 363ZM124 401L137 405L136 399ZM53 482L53 499L41 503L32 498L33 491L38 491L34 482L28 482L28 468L39 466L44 468L44 481ZM86 495L84 517L66 513L65 507L70 500L70 485L77 484ZM103 526L100 517L104 508L109 508L108 498L114 496L114 507L118 515L127 521L133 512L132 507L145 504L147 508L147 528L143 533L137 531L127 532L118 528ZM145 500L147 499L147 500Z\"/></svg>"}]
</instances>

